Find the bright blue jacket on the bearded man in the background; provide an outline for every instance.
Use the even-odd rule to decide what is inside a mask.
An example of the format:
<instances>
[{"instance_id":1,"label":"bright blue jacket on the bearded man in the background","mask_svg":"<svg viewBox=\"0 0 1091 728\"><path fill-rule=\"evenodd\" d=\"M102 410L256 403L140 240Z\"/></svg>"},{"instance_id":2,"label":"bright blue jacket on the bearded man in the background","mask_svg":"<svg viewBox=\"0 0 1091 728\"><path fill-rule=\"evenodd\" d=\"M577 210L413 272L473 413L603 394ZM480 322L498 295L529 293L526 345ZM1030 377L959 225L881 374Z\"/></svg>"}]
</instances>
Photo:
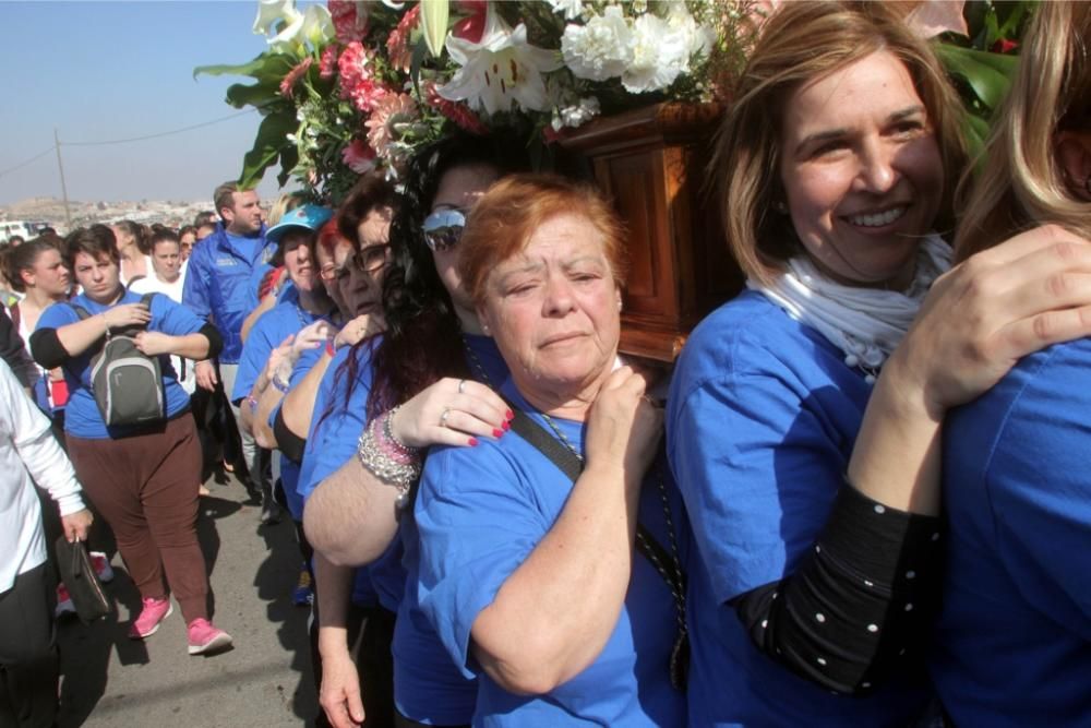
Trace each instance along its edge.
<instances>
[{"instance_id":1,"label":"bright blue jacket on the bearded man in the background","mask_svg":"<svg viewBox=\"0 0 1091 728\"><path fill-rule=\"evenodd\" d=\"M272 265L275 242L265 241L265 228L250 250L231 244L223 224L193 247L182 303L216 325L224 339L221 363L238 363L242 355L242 322L257 308L257 285Z\"/></svg>"}]
</instances>

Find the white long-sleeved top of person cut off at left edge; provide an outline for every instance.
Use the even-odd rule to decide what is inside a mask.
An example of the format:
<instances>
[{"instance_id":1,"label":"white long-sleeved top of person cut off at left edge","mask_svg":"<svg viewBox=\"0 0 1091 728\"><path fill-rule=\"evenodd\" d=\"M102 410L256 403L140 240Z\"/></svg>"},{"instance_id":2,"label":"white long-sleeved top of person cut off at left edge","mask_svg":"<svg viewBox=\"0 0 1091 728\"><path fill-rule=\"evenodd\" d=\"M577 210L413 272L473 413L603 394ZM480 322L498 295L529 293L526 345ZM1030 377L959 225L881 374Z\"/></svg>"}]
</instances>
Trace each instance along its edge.
<instances>
[{"instance_id":1,"label":"white long-sleeved top of person cut off at left edge","mask_svg":"<svg viewBox=\"0 0 1091 728\"><path fill-rule=\"evenodd\" d=\"M61 515L83 510L75 470L53 439L49 419L0 360L0 594L12 587L19 574L46 561L34 482L49 491Z\"/></svg>"}]
</instances>

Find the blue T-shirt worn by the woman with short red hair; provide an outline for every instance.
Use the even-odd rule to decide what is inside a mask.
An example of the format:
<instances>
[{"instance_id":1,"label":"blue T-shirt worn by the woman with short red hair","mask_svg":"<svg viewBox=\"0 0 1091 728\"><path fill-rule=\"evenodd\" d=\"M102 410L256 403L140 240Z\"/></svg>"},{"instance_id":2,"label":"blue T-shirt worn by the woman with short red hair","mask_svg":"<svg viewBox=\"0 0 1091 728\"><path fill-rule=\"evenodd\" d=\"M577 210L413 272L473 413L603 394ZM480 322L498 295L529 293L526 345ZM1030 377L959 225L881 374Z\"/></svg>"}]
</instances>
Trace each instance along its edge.
<instances>
[{"instance_id":1,"label":"blue T-shirt worn by the woman with short red hair","mask_svg":"<svg viewBox=\"0 0 1091 728\"><path fill-rule=\"evenodd\" d=\"M551 431L514 384L506 383L503 391ZM556 418L553 422L583 450L582 422ZM659 477L668 489L675 527L684 527L684 522L681 499L666 470L662 463L649 470L640 491L639 521L670 548ZM556 523L573 485L515 433L477 447L440 447L429 454L416 504L421 534L418 593L424 613L463 673L479 678L473 725L685 725L685 696L671 687L669 671L676 636L675 601L663 577L640 556L634 557L625 604L602 652L549 694L509 693L473 658L470 633L478 614ZM681 530L675 536L680 546L684 544ZM680 556L684 559L684 553Z\"/></svg>"}]
</instances>

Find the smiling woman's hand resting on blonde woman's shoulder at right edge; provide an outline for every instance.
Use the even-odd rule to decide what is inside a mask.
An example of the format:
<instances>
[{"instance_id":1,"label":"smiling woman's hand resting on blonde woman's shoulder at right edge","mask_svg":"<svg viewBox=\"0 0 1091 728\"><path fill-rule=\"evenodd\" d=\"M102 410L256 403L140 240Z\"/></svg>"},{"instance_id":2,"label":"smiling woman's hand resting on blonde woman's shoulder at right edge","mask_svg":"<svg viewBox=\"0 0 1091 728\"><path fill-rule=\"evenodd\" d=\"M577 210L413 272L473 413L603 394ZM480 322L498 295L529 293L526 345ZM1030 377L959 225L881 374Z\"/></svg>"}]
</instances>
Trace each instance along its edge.
<instances>
[{"instance_id":1,"label":"smiling woman's hand resting on blonde woman's shoulder at right edge","mask_svg":"<svg viewBox=\"0 0 1091 728\"><path fill-rule=\"evenodd\" d=\"M1029 230L939 277L884 377L919 387L936 420L1046 346L1091 335L1091 242Z\"/></svg>"}]
</instances>

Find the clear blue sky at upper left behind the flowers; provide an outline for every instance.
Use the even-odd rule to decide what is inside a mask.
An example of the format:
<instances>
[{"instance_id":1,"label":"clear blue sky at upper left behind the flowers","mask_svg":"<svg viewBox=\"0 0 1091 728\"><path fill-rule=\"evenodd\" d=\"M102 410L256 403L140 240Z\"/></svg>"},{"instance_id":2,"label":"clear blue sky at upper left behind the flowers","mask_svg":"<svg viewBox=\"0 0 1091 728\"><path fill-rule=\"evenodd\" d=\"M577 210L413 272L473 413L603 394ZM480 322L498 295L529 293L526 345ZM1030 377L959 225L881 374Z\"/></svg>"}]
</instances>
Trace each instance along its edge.
<instances>
[{"instance_id":1,"label":"clear blue sky at upper left behind the flowers","mask_svg":"<svg viewBox=\"0 0 1091 728\"><path fill-rule=\"evenodd\" d=\"M302 3L300 3L302 4ZM266 48L257 3L0 0L0 172L61 140L71 200L200 200L237 178L256 112L160 139L67 146L171 131L237 114L224 100L241 76L193 68L242 63ZM259 191L276 193L271 170ZM0 205L61 196L55 153L0 175Z\"/></svg>"}]
</instances>

